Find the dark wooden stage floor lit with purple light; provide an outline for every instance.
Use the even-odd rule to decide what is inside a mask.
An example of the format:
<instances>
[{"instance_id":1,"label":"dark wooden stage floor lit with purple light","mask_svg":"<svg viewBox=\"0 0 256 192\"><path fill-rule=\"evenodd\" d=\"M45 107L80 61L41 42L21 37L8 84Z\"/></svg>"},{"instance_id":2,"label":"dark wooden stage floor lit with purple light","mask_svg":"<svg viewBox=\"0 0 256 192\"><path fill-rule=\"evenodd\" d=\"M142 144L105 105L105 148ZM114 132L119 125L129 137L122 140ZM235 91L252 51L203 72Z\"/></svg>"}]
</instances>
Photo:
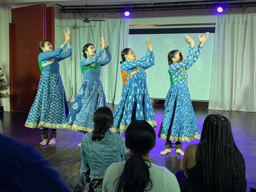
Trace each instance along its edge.
<instances>
[{"instance_id":1,"label":"dark wooden stage floor lit with purple light","mask_svg":"<svg viewBox=\"0 0 256 192\"><path fill-rule=\"evenodd\" d=\"M114 112L117 105L109 104ZM153 103L155 117L158 128L155 133L158 135L162 121L163 102ZM250 187L256 188L256 113L238 111L215 111L215 110L195 110L197 122L201 130L203 121L208 114L218 113L229 119L232 125L232 132L235 142L245 158L247 191ZM80 148L77 144L81 141L83 134L68 129L57 130L57 143L54 145L42 146L41 129L30 129L24 126L27 112L5 112L0 116L3 124L4 135L18 139L19 141L37 148L44 158L50 161L53 169L56 169L66 185L76 185L79 183L79 172L81 165ZM194 140L191 143L198 143ZM164 149L165 140L156 139L155 148L150 152L151 162L165 166L174 174L182 169L181 155L172 150L169 155L162 156L160 151ZM183 142L183 150L189 143Z\"/></svg>"}]
</instances>

